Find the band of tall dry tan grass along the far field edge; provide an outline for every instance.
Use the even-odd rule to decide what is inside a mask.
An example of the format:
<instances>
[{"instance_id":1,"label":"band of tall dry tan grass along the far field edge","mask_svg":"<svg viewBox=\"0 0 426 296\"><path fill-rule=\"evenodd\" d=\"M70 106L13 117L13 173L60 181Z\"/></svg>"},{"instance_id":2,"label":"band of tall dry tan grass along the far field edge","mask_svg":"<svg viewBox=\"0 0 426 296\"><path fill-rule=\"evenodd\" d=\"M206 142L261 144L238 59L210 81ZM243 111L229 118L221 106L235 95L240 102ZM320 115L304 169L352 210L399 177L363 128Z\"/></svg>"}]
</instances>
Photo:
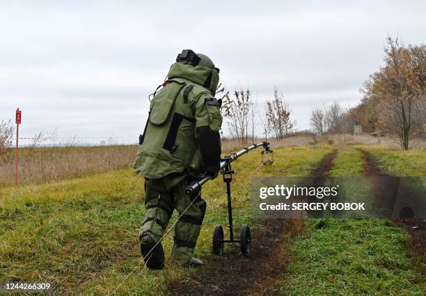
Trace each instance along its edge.
<instances>
[{"instance_id":1,"label":"band of tall dry tan grass along the far field edge","mask_svg":"<svg viewBox=\"0 0 426 296\"><path fill-rule=\"evenodd\" d=\"M262 142L257 138L254 142ZM379 140L371 135L295 135L277 141L268 139L271 147L323 147L324 145L377 145ZM252 141L248 140L247 145ZM413 149L426 149L426 141L413 140ZM397 140L387 137L380 139L382 147L400 149ZM238 151L245 147L237 139L223 139L223 154ZM19 149L19 183L43 183L61 179L73 179L96 172L107 172L132 167L137 145L102 146L102 147L56 147ZM8 157L0 158L0 186L14 182L15 164L13 150Z\"/></svg>"}]
</instances>

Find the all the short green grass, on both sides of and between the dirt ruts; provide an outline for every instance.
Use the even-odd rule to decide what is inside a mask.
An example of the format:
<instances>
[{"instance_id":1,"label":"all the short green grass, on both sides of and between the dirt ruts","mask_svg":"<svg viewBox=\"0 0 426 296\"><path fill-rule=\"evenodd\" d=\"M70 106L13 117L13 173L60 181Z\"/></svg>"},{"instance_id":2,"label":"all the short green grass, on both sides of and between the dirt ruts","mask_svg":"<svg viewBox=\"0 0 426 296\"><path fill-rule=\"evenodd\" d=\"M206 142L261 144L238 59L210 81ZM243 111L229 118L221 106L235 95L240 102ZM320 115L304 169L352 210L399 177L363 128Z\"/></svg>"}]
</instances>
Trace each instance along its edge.
<instances>
[{"instance_id":1,"label":"all the short green grass, on both sides of and between the dirt ruts","mask_svg":"<svg viewBox=\"0 0 426 296\"><path fill-rule=\"evenodd\" d=\"M391 174L426 174L426 151L360 147L376 156ZM260 151L235 162L235 231L243 222L262 223L251 217L251 176L307 176L333 149L328 145L277 148L275 163L269 167L260 165ZM339 147L330 174L361 176L361 154L352 146ZM203 196L208 206L196 256L214 267L212 229L214 224L227 224L221 179L207 183ZM190 290L198 284L194 282L197 270L170 265L152 272L141 264L136 235L144 212L143 182L130 169L3 186L0 281L49 281L61 295L108 295L114 291L118 295L161 295L173 293L175 283ZM268 283L270 293L425 295L426 277L419 271L422 263L407 250L409 233L404 229L386 220L311 219L303 227L299 235L285 242L290 246L286 250L290 264L285 267L285 277ZM164 240L166 254L172 243L173 231ZM205 284L210 284L208 279Z\"/></svg>"}]
</instances>

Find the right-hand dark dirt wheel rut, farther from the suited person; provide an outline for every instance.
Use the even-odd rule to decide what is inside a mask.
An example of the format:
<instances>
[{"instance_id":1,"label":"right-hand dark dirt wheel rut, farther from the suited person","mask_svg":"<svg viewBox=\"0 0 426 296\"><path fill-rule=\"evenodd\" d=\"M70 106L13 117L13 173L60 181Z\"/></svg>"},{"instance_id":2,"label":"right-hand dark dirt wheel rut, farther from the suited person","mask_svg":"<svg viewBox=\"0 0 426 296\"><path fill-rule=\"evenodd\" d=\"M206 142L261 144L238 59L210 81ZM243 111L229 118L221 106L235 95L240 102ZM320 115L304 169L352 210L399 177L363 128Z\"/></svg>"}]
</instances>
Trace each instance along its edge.
<instances>
[{"instance_id":1,"label":"right-hand dark dirt wheel rut, farther from the suited person","mask_svg":"<svg viewBox=\"0 0 426 296\"><path fill-rule=\"evenodd\" d=\"M379 167L379 161L368 151L357 148L363 155L363 170L365 176L387 176L385 179L385 186L395 186L397 184L398 177L390 176L384 170L381 170ZM387 180L387 181L386 181ZM372 182L372 193L374 199L377 199L379 202L383 202L383 195L380 194L379 184L377 182ZM403 227L410 233L410 239L408 243L409 252L418 254L422 257L422 262L426 264L426 222L425 220L419 219L397 219L390 222L391 225ZM426 268L420 270L423 274L426 274Z\"/></svg>"}]
</instances>

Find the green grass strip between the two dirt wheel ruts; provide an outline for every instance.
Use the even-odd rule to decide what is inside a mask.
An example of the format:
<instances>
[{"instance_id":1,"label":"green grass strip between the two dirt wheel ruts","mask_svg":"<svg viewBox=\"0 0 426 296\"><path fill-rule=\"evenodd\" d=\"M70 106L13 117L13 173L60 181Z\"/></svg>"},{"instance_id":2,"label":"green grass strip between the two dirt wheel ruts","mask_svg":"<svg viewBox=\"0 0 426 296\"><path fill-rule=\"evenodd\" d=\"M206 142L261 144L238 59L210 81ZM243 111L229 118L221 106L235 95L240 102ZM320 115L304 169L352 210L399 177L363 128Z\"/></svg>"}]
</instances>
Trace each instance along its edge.
<instances>
[{"instance_id":1,"label":"green grass strip between the two dirt wheel ruts","mask_svg":"<svg viewBox=\"0 0 426 296\"><path fill-rule=\"evenodd\" d=\"M331 176L363 175L361 153L351 147L339 151L334 165ZM346 185L359 194L370 188L368 180ZM306 233L292 242L289 274L277 291L282 295L425 295L426 277L416 269L420 263L407 253L409 234L388 225L379 219L310 219Z\"/></svg>"}]
</instances>

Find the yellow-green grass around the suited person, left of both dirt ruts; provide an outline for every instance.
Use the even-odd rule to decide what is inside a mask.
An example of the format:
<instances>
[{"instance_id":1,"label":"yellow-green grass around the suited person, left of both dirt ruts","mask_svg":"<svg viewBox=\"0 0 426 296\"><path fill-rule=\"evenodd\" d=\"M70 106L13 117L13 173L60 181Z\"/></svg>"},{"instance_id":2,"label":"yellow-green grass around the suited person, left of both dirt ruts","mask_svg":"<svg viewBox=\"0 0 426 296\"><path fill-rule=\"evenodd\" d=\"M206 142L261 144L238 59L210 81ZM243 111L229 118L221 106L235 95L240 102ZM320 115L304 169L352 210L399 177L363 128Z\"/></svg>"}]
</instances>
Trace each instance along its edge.
<instances>
[{"instance_id":1,"label":"yellow-green grass around the suited person, left of both dirt ruts","mask_svg":"<svg viewBox=\"0 0 426 296\"><path fill-rule=\"evenodd\" d=\"M329 147L278 148L274 165L264 167L259 149L232 163L235 229L251 221L252 176L306 176L329 151ZM220 176L207 183L203 197L207 214L196 248L201 258L211 254L214 224L228 224ZM0 281L49 281L58 294L104 295L138 265L118 294L161 293L164 277L189 281L192 270L142 268L137 233L144 213L143 180L132 170L0 188ZM164 240L166 256L172 244L173 233Z\"/></svg>"}]
</instances>

